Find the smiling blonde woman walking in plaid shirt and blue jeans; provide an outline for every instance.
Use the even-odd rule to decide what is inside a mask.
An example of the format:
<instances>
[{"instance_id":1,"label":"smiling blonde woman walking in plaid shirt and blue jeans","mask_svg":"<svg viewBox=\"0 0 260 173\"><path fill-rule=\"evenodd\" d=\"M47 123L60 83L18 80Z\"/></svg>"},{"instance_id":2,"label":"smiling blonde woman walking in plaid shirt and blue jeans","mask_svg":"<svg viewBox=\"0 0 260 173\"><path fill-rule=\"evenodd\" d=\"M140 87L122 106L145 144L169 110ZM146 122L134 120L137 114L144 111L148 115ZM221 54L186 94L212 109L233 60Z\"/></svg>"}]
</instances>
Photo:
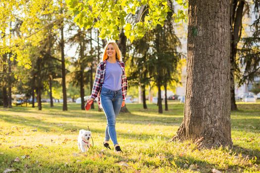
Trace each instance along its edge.
<instances>
[{"instance_id":1,"label":"smiling blonde woman walking in plaid shirt and blue jeans","mask_svg":"<svg viewBox=\"0 0 260 173\"><path fill-rule=\"evenodd\" d=\"M125 105L126 93L127 79L121 51L115 42L110 41L105 45L103 60L97 66L92 94L87 103L92 104L93 100L98 97L98 105L104 110L107 120L103 144L111 149L108 144L111 138L117 152L122 152L122 150L117 142L115 118L121 107Z\"/></svg>"}]
</instances>

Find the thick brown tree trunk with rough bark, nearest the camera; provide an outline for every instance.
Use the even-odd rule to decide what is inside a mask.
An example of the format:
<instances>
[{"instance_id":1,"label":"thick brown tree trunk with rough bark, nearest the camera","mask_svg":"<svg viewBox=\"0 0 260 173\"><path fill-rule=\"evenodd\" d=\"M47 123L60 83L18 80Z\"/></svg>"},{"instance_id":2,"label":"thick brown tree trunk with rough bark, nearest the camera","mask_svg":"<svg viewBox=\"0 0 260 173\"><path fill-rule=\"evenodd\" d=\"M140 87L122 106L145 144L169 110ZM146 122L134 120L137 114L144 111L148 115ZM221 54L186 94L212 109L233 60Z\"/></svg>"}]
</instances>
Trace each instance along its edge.
<instances>
[{"instance_id":1,"label":"thick brown tree trunk with rough bark, nearest the camera","mask_svg":"<svg viewBox=\"0 0 260 173\"><path fill-rule=\"evenodd\" d=\"M229 0L189 0L184 119L171 140L232 146Z\"/></svg>"}]
</instances>

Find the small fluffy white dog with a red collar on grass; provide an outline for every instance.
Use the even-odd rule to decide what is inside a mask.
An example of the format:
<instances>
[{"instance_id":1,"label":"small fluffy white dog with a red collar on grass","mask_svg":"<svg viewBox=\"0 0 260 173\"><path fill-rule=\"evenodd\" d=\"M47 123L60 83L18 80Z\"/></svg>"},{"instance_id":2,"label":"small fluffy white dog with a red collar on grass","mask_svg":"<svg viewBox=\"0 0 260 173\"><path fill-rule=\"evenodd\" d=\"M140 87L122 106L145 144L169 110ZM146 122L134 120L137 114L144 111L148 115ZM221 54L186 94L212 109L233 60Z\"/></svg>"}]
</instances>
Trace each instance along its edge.
<instances>
[{"instance_id":1,"label":"small fluffy white dog with a red collar on grass","mask_svg":"<svg viewBox=\"0 0 260 173\"><path fill-rule=\"evenodd\" d=\"M91 131L79 130L78 147L84 153L92 146L90 143Z\"/></svg>"}]
</instances>

